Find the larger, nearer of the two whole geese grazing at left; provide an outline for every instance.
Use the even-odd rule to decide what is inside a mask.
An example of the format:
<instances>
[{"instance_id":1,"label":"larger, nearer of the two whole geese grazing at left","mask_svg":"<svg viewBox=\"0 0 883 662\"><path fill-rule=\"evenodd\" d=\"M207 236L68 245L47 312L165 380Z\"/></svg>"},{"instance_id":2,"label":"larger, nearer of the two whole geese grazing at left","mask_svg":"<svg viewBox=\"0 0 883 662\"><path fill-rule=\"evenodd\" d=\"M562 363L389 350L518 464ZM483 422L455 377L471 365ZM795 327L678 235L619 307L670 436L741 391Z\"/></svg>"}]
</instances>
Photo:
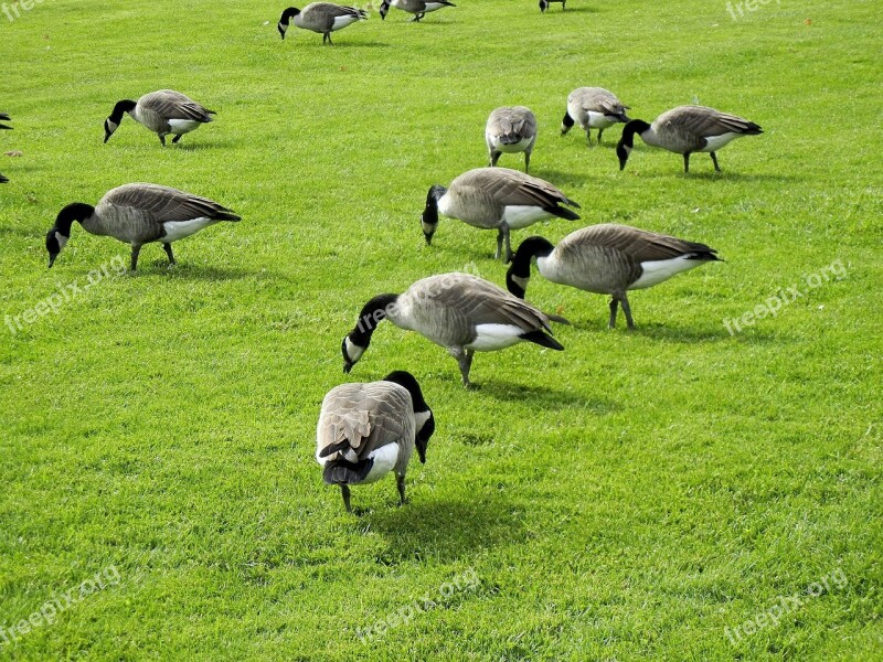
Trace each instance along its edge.
<instances>
[{"instance_id":1,"label":"larger, nearer of the two whole geese grazing at left","mask_svg":"<svg viewBox=\"0 0 883 662\"><path fill-rule=\"evenodd\" d=\"M89 234L131 244L131 270L135 271L143 244L161 242L169 264L173 265L172 242L219 221L238 220L231 210L208 197L157 184L125 184L105 193L96 206L74 202L58 212L55 225L46 234L49 266L52 268L71 238L74 221Z\"/></svg>"}]
</instances>

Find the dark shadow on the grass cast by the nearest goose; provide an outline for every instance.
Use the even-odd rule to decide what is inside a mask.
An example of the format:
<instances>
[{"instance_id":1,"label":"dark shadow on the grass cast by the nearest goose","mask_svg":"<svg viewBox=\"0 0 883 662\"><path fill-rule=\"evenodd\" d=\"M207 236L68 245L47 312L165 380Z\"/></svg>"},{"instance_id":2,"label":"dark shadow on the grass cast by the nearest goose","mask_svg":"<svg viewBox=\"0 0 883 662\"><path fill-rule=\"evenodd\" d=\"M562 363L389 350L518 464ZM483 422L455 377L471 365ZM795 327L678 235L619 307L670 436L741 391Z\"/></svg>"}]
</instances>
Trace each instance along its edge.
<instances>
[{"instance_id":1,"label":"dark shadow on the grass cast by the nearest goose","mask_svg":"<svg viewBox=\"0 0 883 662\"><path fill-rule=\"evenodd\" d=\"M432 459L430 459L432 461ZM387 542L377 563L395 565L416 559L449 563L523 537L523 523L504 495L474 494L468 500L432 500L424 491L401 508L377 508L359 517Z\"/></svg>"}]
</instances>

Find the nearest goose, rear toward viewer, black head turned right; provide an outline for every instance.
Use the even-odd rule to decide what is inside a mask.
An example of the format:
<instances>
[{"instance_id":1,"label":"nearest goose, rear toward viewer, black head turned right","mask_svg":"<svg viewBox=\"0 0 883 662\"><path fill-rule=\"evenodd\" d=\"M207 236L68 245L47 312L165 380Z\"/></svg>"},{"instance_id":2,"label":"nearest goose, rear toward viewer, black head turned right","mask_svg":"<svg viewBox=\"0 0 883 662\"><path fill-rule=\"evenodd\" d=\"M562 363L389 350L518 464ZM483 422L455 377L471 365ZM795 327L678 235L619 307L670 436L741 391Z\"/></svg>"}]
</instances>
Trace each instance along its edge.
<instances>
[{"instance_id":1,"label":"nearest goose, rear toward viewer, black head turned right","mask_svg":"<svg viewBox=\"0 0 883 662\"><path fill-rule=\"evenodd\" d=\"M408 372L392 372L381 382L341 384L322 401L316 428L316 460L326 484L340 485L350 508L350 485L379 481L395 472L398 498L405 503L405 471L414 448L426 463L426 446L435 417Z\"/></svg>"}]
</instances>

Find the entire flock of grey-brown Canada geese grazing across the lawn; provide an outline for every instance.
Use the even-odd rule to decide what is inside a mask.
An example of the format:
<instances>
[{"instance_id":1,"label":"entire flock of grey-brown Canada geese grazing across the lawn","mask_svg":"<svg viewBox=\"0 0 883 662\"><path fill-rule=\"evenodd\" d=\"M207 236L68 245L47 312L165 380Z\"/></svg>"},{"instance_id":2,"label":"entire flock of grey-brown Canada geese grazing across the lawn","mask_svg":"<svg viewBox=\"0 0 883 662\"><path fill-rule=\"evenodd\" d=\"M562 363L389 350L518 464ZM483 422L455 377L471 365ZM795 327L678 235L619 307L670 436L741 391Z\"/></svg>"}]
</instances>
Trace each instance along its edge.
<instances>
[{"instance_id":1,"label":"entire flock of grey-brown Canada geese grazing across the lawn","mask_svg":"<svg viewBox=\"0 0 883 662\"><path fill-rule=\"evenodd\" d=\"M541 11L552 1L561 1L564 9L564 0L540 0ZM412 21L417 22L427 13L456 6L447 0L383 0L381 18L385 19L391 7L413 14ZM333 45L332 32L366 19L361 9L315 2L302 10L285 9L277 26L283 39L294 23L322 34L322 43ZM637 135L648 146L682 154L685 172L694 152L709 153L720 172L717 151L736 138L763 132L755 122L704 106L675 107L652 124L629 118L629 109L607 89L578 87L567 97L561 134L578 125L592 147L593 129L597 131L596 145L600 145L606 129L623 124L616 146L620 170L626 167ZM172 89L145 94L138 100L123 99L104 122L105 142L125 115L156 134L164 148L167 136L174 136L172 143L178 143L185 134L213 121L215 113ZM0 114L0 120L11 118ZM659 285L720 259L717 252L705 244L617 224L577 228L557 245L531 236L513 252L513 229L549 218L581 218L573 211L579 209L578 203L553 183L528 174L536 127L536 116L526 106L493 109L485 128L488 166L464 172L447 186L433 184L421 215L427 246L432 245L439 216L497 231L494 259L509 265L506 289L477 276L448 273L422 278L402 293L376 295L364 303L352 331L343 338L344 373L350 373L363 357L383 320L444 348L457 361L467 388L472 385L470 371L476 352L503 350L523 342L564 351L554 338L552 323L568 324L567 320L524 301L533 263L552 282L609 296L609 328L614 328L621 307L628 328L634 329L629 290ZM0 124L0 129L11 127ZM502 154L513 153L524 154L524 172L497 167ZM8 181L0 174L0 183ZM55 264L68 243L75 222L89 234L128 244L130 268L135 271L145 244L162 244L170 265L174 265L173 242L210 225L240 220L235 212L208 197L152 183L125 184L108 191L94 206L73 202L58 212L45 239L49 266ZM340 487L348 512L352 510L351 485L375 482L390 472L396 477L404 503L408 460L416 449L421 462L425 462L434 431L435 415L417 378L398 370L379 382L345 383L328 392L317 426L316 459L323 468L325 482Z\"/></svg>"}]
</instances>

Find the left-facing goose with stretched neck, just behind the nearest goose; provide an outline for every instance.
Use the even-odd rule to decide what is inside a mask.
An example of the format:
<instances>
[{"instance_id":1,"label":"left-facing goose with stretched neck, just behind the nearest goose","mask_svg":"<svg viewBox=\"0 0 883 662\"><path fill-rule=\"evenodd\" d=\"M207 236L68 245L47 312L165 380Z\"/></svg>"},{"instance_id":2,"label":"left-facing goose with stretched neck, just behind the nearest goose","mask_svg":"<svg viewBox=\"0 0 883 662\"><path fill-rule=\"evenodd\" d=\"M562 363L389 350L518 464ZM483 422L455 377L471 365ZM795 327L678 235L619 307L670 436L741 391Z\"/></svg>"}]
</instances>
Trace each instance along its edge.
<instances>
[{"instance_id":1,"label":"left-facing goose with stretched neck, just behind the nearest goose","mask_svg":"<svg viewBox=\"0 0 883 662\"><path fill-rule=\"evenodd\" d=\"M563 350L550 335L549 321L567 323L481 278L468 274L429 276L403 295L377 295L364 305L355 328L343 339L343 372L349 373L362 357L371 334L384 319L445 348L457 360L466 387L476 352L502 350L524 341Z\"/></svg>"}]
</instances>

